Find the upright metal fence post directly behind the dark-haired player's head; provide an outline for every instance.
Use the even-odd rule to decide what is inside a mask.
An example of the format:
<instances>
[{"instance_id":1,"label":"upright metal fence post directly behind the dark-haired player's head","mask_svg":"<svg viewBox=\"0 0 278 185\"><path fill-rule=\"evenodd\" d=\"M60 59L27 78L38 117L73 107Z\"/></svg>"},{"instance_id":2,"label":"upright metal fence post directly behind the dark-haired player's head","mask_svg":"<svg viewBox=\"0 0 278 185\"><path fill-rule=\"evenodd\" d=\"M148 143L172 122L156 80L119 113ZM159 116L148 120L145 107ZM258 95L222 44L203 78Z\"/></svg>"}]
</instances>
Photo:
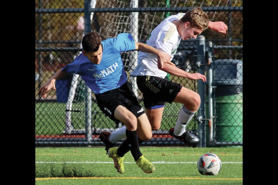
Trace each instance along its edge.
<instances>
[{"instance_id":1,"label":"upright metal fence post directly behind the dark-haired player's head","mask_svg":"<svg viewBox=\"0 0 278 185\"><path fill-rule=\"evenodd\" d=\"M85 19L85 30L84 35L91 32L91 0L84 0L84 19ZM92 138L92 90L85 86L85 129L86 129L86 141L90 142Z\"/></svg>"}]
</instances>

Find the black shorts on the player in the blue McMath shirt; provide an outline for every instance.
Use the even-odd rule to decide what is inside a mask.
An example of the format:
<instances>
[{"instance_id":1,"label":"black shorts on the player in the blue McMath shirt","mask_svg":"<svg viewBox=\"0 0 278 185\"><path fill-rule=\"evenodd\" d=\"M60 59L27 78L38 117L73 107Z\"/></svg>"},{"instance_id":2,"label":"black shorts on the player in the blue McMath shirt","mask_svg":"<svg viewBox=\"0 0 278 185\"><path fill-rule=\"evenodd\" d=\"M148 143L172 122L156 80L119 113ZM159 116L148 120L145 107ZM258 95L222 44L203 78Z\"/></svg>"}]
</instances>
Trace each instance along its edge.
<instances>
[{"instance_id":1,"label":"black shorts on the player in the blue McMath shirt","mask_svg":"<svg viewBox=\"0 0 278 185\"><path fill-rule=\"evenodd\" d=\"M120 122L115 118L115 109L122 105L132 112L137 118L145 113L144 109L132 91L132 84L126 82L121 87L96 95L100 110L117 124Z\"/></svg>"}]
</instances>

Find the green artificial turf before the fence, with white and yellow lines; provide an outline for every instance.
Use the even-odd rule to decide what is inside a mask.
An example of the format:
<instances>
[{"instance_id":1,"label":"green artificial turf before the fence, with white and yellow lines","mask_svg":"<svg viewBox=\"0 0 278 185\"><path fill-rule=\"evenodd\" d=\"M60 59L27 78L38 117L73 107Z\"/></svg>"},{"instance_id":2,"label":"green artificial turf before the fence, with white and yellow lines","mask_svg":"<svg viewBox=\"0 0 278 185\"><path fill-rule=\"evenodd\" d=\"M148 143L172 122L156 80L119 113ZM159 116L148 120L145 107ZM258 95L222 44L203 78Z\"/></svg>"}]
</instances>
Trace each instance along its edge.
<instances>
[{"instance_id":1,"label":"green artificial turf before the fence, with white and yellow lines","mask_svg":"<svg viewBox=\"0 0 278 185\"><path fill-rule=\"evenodd\" d=\"M131 153L125 155L125 174L114 168L104 147L35 148L35 184L243 184L243 148L140 147L156 171L144 173ZM197 171L198 158L215 153L222 161L216 176Z\"/></svg>"}]
</instances>

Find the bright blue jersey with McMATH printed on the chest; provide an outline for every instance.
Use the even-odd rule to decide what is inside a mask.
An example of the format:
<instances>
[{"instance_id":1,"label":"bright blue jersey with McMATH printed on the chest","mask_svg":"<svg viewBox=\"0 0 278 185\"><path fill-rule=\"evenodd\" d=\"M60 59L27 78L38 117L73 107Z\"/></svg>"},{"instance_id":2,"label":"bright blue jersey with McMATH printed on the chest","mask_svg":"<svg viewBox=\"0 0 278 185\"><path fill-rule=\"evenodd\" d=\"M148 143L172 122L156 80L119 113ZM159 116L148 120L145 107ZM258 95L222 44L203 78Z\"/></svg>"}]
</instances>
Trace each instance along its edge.
<instances>
[{"instance_id":1,"label":"bright blue jersey with McMATH printed on the chest","mask_svg":"<svg viewBox=\"0 0 278 185\"><path fill-rule=\"evenodd\" d=\"M122 33L116 38L101 42L103 55L100 64L93 64L81 53L74 62L66 65L62 71L81 75L87 86L95 93L116 89L127 81L121 52L134 50L135 42L131 34Z\"/></svg>"}]
</instances>

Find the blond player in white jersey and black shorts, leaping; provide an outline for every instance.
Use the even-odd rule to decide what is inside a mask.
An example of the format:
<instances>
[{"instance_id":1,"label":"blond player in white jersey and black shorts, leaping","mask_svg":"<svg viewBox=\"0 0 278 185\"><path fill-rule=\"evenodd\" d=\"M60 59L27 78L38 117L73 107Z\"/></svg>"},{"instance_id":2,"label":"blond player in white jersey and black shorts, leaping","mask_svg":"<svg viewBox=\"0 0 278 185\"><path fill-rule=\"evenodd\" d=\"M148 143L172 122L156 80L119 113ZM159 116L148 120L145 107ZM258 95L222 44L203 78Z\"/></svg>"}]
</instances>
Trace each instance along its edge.
<instances>
[{"instance_id":1,"label":"blond player in white jersey and black shorts, leaping","mask_svg":"<svg viewBox=\"0 0 278 185\"><path fill-rule=\"evenodd\" d=\"M146 44L168 53L172 60L181 40L196 38L208 27L220 33L226 33L228 29L223 22L209 21L207 14L200 7L194 8L185 14L179 13L165 18L153 29ZM137 85L143 93L145 112L150 121L151 129L158 130L160 128L165 102L183 103L184 106L180 110L175 127L169 130L169 134L188 145L197 145L199 138L186 132L185 127L200 106L200 96L180 84L165 79L167 73L191 80L206 81L203 74L187 73L166 63L161 66L155 55L139 52L138 65L131 76L137 77ZM124 129L125 127L122 127L111 134L108 133L109 137L108 134L101 133L100 139L106 147L110 147L111 143L123 137ZM146 129L143 132L146 132Z\"/></svg>"}]
</instances>

